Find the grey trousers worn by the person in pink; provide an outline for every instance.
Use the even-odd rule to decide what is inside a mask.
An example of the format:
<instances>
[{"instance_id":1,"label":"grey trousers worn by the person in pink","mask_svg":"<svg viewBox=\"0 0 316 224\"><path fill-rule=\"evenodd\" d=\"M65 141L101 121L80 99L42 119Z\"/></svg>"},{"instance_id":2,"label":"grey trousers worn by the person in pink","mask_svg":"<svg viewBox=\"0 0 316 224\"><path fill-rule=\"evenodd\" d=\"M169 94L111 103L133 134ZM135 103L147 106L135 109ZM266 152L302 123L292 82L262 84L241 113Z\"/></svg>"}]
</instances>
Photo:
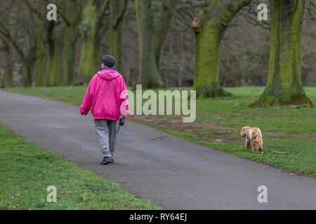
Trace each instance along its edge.
<instances>
[{"instance_id":1,"label":"grey trousers worn by the person in pink","mask_svg":"<svg viewBox=\"0 0 316 224\"><path fill-rule=\"evenodd\" d=\"M114 158L115 145L117 144L117 121L95 119L94 124L96 125L102 156Z\"/></svg>"}]
</instances>

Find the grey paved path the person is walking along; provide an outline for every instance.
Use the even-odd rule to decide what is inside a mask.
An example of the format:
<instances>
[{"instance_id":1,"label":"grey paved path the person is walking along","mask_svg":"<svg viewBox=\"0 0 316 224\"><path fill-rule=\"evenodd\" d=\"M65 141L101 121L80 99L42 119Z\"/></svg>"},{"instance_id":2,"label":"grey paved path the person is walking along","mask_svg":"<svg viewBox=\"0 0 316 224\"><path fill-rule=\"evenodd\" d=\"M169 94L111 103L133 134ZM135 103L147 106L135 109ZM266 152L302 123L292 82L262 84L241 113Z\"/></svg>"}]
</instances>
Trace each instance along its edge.
<instances>
[{"instance_id":1,"label":"grey paved path the person is walking along","mask_svg":"<svg viewBox=\"0 0 316 224\"><path fill-rule=\"evenodd\" d=\"M116 165L98 165L93 118L80 116L76 106L0 90L0 123L164 209L316 209L314 178L135 123L119 131ZM169 139L151 141L159 136ZM257 201L261 185L268 188L268 203Z\"/></svg>"}]
</instances>

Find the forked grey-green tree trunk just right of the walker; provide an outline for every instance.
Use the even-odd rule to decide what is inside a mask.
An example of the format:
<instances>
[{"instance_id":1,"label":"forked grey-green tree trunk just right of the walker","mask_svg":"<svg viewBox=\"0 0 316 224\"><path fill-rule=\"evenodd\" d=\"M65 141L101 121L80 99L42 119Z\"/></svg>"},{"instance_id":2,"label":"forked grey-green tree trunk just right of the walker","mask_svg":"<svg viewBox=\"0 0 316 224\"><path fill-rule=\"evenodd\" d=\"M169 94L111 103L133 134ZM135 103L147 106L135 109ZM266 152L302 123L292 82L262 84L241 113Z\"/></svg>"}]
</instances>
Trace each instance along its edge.
<instances>
[{"instance_id":1,"label":"forked grey-green tree trunk just right of the walker","mask_svg":"<svg viewBox=\"0 0 316 224\"><path fill-rule=\"evenodd\" d=\"M143 87L163 85L159 73L159 54L171 22L171 9L178 0L165 0L157 22L151 12L152 0L135 0L138 26L139 74L138 83Z\"/></svg>"}]
</instances>

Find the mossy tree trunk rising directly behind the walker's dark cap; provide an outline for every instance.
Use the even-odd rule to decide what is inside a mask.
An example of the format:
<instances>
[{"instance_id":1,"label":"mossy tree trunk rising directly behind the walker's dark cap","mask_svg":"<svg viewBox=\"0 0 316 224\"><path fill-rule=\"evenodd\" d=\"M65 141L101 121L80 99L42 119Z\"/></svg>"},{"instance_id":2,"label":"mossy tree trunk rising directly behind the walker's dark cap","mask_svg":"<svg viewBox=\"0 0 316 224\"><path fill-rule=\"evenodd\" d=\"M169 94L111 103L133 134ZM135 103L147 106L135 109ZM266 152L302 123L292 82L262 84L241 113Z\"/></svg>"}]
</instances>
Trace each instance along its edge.
<instances>
[{"instance_id":1,"label":"mossy tree trunk rising directly behind the walker's dark cap","mask_svg":"<svg viewBox=\"0 0 316 224\"><path fill-rule=\"evenodd\" d=\"M110 0L110 25L108 55L117 60L115 68L121 69L121 24L128 0Z\"/></svg>"}]
</instances>

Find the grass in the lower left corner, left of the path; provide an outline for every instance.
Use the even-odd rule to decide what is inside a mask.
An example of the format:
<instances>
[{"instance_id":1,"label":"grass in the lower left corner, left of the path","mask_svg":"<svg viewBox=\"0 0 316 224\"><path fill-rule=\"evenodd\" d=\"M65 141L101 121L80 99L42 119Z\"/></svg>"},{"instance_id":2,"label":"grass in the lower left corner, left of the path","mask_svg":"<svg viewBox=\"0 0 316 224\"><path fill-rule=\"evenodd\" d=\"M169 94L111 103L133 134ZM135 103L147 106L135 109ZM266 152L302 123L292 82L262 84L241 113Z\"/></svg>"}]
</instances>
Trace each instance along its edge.
<instances>
[{"instance_id":1,"label":"grass in the lower left corner, left of the path","mask_svg":"<svg viewBox=\"0 0 316 224\"><path fill-rule=\"evenodd\" d=\"M46 189L57 188L48 203ZM160 209L113 181L34 146L0 124L0 210Z\"/></svg>"}]
</instances>

